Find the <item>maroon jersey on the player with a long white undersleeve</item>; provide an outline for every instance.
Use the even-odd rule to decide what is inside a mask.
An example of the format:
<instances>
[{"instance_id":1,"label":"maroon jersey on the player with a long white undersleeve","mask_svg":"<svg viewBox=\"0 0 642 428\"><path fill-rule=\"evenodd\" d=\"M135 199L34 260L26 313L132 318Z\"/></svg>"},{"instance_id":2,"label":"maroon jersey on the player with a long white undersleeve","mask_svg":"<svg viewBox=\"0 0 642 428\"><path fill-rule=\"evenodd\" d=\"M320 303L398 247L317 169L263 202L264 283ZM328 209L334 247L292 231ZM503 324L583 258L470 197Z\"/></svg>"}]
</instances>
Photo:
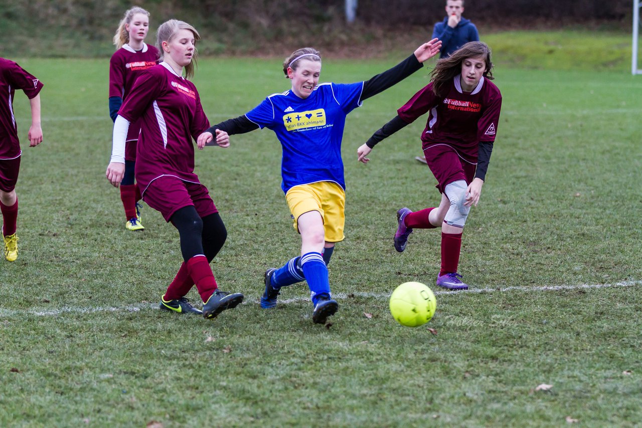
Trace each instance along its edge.
<instances>
[{"instance_id":1,"label":"maroon jersey on the player with a long white undersleeve","mask_svg":"<svg viewBox=\"0 0 642 428\"><path fill-rule=\"evenodd\" d=\"M200 183L192 139L209 128L209 121L194 83L162 62L138 78L118 114L130 122L141 119L135 167L141 189L164 175Z\"/></svg>"}]
</instances>

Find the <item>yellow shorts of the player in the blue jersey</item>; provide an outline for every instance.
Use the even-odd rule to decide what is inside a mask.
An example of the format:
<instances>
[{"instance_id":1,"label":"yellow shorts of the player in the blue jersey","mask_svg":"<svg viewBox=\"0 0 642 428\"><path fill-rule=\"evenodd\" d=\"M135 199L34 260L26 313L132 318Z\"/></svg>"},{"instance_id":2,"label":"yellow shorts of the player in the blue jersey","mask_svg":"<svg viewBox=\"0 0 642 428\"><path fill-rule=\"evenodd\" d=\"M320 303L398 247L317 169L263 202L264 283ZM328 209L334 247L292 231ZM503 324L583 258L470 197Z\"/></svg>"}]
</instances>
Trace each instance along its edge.
<instances>
[{"instance_id":1,"label":"yellow shorts of the player in the blue jersey","mask_svg":"<svg viewBox=\"0 0 642 428\"><path fill-rule=\"evenodd\" d=\"M318 182L292 187L285 195L294 228L299 232L297 219L301 214L318 211L323 219L325 241L338 243L343 241L345 225L345 192L334 182Z\"/></svg>"}]
</instances>

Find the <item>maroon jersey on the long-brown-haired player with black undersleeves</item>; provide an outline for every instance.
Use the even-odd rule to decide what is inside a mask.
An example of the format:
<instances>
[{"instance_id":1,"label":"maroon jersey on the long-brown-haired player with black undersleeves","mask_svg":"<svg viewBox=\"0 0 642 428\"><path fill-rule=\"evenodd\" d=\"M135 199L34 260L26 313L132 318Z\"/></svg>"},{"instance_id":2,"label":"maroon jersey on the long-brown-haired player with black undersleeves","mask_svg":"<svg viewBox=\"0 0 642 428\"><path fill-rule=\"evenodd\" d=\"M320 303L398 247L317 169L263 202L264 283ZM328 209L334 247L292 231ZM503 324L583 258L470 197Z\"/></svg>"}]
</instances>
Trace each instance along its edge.
<instances>
[{"instance_id":1,"label":"maroon jersey on the long-brown-haired player with black undersleeves","mask_svg":"<svg viewBox=\"0 0 642 428\"><path fill-rule=\"evenodd\" d=\"M417 92L397 110L404 122L412 123L426 112L428 121L421 135L424 150L447 144L468 162L477 162L480 141L495 141L501 110L501 93L492 81L481 78L473 92L464 92L460 75L453 78L446 97L433 93L433 83Z\"/></svg>"}]
</instances>

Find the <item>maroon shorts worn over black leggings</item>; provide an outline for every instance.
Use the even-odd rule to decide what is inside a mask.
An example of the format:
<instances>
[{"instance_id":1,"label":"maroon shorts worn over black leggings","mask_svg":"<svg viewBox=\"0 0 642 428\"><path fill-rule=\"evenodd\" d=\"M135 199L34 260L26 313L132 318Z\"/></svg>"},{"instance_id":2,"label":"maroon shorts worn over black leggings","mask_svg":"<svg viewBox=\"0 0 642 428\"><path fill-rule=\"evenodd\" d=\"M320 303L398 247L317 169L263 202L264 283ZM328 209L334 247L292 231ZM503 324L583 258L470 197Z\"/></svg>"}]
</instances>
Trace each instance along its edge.
<instances>
[{"instance_id":1,"label":"maroon shorts worn over black leggings","mask_svg":"<svg viewBox=\"0 0 642 428\"><path fill-rule=\"evenodd\" d=\"M147 205L162 214L169 221L177 210L193 205L203 218L218 212L209 196L207 187L198 183L184 182L175 176L162 176L153 180L143 193Z\"/></svg>"}]
</instances>

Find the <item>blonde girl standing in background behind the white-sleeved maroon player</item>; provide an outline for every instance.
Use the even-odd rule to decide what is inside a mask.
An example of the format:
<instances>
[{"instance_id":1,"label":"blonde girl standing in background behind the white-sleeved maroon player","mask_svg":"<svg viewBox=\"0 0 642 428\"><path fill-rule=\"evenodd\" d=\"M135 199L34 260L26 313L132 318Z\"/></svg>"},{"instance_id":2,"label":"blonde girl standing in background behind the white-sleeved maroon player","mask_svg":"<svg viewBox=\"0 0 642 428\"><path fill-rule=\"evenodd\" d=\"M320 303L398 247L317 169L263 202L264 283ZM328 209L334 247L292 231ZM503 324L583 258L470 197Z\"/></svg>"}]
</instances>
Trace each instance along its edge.
<instances>
[{"instance_id":1,"label":"blonde girl standing in background behind the white-sleeved maroon player","mask_svg":"<svg viewBox=\"0 0 642 428\"><path fill-rule=\"evenodd\" d=\"M109 61L109 116L116 120L118 109L127 98L136 79L157 64L159 51L144 42L150 26L150 13L134 7L125 12L114 35L116 52ZM121 201L125 208L127 230L143 230L140 210L141 191L134 181L136 142L141 131L139 123L132 123L125 146L125 178L120 186Z\"/></svg>"}]
</instances>

